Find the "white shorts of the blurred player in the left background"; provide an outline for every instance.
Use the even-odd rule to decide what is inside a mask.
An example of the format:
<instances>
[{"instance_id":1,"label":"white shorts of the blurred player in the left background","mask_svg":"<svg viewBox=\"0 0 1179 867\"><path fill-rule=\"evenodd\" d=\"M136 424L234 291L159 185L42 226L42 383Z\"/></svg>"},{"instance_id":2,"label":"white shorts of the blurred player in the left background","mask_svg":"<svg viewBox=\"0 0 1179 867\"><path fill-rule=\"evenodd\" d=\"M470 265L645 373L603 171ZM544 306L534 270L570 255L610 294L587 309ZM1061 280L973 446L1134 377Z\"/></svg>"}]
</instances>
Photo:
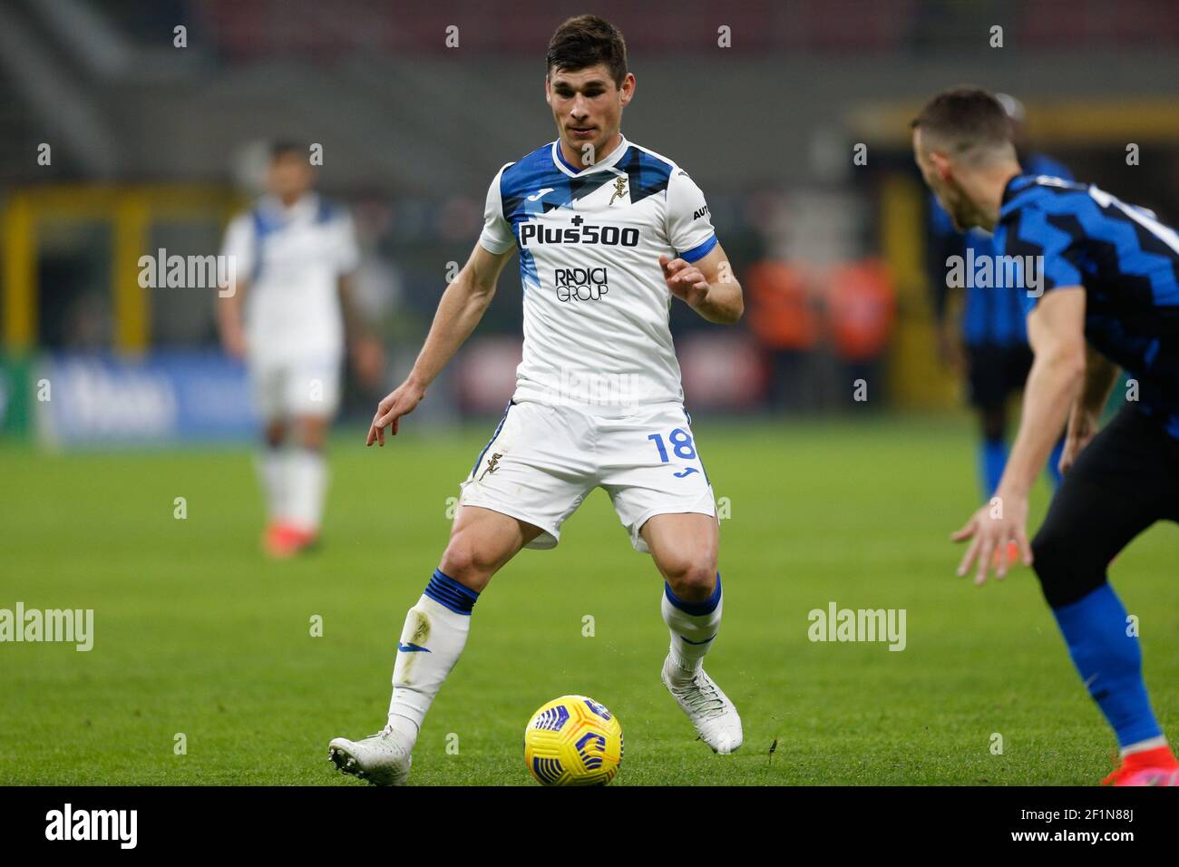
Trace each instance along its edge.
<instances>
[{"instance_id":1,"label":"white shorts of the blurred player in the left background","mask_svg":"<svg viewBox=\"0 0 1179 867\"><path fill-rule=\"evenodd\" d=\"M290 360L251 357L253 406L265 421L304 415L334 418L340 407L340 359Z\"/></svg>"}]
</instances>

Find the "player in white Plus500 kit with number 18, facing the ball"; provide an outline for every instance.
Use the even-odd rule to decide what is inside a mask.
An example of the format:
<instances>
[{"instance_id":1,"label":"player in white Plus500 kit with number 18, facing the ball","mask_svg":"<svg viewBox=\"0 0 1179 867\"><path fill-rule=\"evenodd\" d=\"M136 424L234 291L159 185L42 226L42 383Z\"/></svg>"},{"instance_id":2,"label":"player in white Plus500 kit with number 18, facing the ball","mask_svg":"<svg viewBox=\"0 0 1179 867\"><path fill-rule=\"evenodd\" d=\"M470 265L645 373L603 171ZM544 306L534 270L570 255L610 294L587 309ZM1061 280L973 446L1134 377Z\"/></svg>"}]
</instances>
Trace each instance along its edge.
<instances>
[{"instance_id":1,"label":"player in white Plus500 kit with number 18, facing the ball","mask_svg":"<svg viewBox=\"0 0 1179 867\"><path fill-rule=\"evenodd\" d=\"M559 137L495 176L479 243L368 435L368 445L383 446L387 426L397 433L519 251L515 394L462 482L450 541L406 618L388 724L329 744L340 770L377 784L408 777L419 729L492 576L522 547L556 545L562 523L595 487L664 577L664 684L709 747L724 754L742 743L736 708L702 666L720 625L719 532L667 327L673 298L712 322L736 322L740 285L697 185L620 132L635 87L621 34L594 15L565 21L549 42L547 73Z\"/></svg>"}]
</instances>

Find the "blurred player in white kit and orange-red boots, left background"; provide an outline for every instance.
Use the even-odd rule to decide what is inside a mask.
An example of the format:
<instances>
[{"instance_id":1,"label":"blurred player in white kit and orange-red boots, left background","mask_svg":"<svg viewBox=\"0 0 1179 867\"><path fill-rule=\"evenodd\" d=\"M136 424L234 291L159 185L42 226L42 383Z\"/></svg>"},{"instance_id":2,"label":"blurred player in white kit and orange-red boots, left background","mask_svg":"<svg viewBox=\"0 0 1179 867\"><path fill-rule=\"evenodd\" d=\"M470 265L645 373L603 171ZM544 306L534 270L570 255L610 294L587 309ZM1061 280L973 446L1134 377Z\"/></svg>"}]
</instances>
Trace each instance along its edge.
<instances>
[{"instance_id":1,"label":"blurred player in white kit and orange-red boots, left background","mask_svg":"<svg viewBox=\"0 0 1179 867\"><path fill-rule=\"evenodd\" d=\"M233 218L222 249L236 260L237 282L218 301L217 323L225 352L246 362L265 425L258 468L263 544L274 557L318 539L345 331L362 380L377 380L384 366L350 297L360 257L353 221L311 189L314 180L307 150L275 145L269 195Z\"/></svg>"}]
</instances>

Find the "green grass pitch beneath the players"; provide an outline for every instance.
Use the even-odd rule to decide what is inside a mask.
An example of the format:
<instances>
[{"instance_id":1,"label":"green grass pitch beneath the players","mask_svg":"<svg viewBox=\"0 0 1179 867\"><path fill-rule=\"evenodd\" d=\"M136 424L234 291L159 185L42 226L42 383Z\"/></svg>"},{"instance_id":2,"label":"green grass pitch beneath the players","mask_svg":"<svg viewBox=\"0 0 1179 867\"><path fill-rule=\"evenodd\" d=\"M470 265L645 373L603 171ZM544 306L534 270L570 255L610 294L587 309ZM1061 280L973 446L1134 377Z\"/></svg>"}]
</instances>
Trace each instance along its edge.
<instances>
[{"instance_id":1,"label":"green grass pitch beneath the players","mask_svg":"<svg viewBox=\"0 0 1179 867\"><path fill-rule=\"evenodd\" d=\"M259 553L246 449L0 449L0 607L91 607L95 619L91 652L0 645L0 783L358 784L331 769L328 740L383 724L406 609L488 435L413 427L380 451L356 431L334 440L324 545L292 563ZM531 783L523 725L567 692L621 721L621 786L1093 784L1108 770L1113 738L1030 571L981 590L954 576L948 536L976 506L966 421L694 427L731 510L707 669L742 712L742 750L694 741L659 683L661 582L595 492L555 551L522 552L480 598L411 783ZM1041 485L1033 528L1046 500ZM1157 525L1111 570L1172 735L1175 552L1174 526ZM832 600L905 609L907 648L810 642L808 612Z\"/></svg>"}]
</instances>

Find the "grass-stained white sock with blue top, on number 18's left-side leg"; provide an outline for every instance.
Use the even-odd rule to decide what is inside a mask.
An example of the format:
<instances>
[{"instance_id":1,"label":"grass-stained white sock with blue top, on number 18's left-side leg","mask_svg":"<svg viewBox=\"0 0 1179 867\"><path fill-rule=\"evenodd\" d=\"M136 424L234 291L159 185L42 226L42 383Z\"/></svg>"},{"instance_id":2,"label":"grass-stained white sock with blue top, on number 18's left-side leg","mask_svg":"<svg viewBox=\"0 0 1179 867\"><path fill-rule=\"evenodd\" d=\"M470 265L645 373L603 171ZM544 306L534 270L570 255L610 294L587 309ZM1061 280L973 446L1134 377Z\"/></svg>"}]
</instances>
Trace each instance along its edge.
<instances>
[{"instance_id":1,"label":"grass-stained white sock with blue top, on number 18's left-side leg","mask_svg":"<svg viewBox=\"0 0 1179 867\"><path fill-rule=\"evenodd\" d=\"M406 616L393 669L389 725L413 746L434 696L459 662L479 593L440 570Z\"/></svg>"}]
</instances>

